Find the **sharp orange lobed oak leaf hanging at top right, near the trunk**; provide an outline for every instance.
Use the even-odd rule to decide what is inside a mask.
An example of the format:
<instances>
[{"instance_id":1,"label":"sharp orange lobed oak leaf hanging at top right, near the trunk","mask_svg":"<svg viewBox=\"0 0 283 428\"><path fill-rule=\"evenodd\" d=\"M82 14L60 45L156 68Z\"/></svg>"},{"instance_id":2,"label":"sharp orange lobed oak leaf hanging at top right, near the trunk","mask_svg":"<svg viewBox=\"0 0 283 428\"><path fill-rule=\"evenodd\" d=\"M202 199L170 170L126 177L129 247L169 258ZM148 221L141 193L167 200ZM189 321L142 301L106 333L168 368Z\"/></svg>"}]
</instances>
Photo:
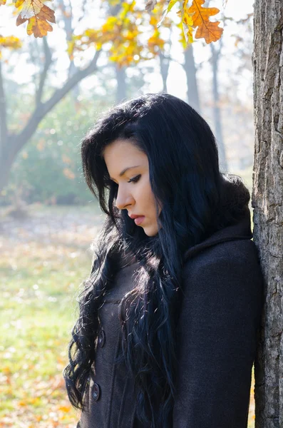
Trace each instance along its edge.
<instances>
[{"instance_id":1,"label":"sharp orange lobed oak leaf hanging at top right, near the trunk","mask_svg":"<svg viewBox=\"0 0 283 428\"><path fill-rule=\"evenodd\" d=\"M223 29L218 26L220 21L210 21L210 16L218 14L220 10L216 7L203 7L202 4L204 3L205 0L192 0L192 6L187 9L187 13L193 14L193 26L197 27L195 39L203 37L207 44L210 44L212 41L220 39Z\"/></svg>"}]
</instances>

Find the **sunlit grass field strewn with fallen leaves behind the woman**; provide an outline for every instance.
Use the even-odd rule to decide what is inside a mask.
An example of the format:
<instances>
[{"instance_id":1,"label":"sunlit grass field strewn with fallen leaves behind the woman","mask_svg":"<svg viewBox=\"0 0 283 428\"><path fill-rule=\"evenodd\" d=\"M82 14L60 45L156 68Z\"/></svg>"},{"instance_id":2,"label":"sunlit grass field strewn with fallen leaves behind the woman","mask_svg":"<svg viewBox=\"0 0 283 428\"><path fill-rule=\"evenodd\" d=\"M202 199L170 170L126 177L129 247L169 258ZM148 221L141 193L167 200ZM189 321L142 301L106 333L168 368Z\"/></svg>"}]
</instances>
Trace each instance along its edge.
<instances>
[{"instance_id":1,"label":"sunlit grass field strewn with fallen leaves behind the woman","mask_svg":"<svg viewBox=\"0 0 283 428\"><path fill-rule=\"evenodd\" d=\"M4 218L2 210L0 427L76 427L79 414L68 402L62 370L76 293L101 221L91 207L38 205L24 220ZM252 377L249 428L253 387Z\"/></svg>"}]
</instances>

